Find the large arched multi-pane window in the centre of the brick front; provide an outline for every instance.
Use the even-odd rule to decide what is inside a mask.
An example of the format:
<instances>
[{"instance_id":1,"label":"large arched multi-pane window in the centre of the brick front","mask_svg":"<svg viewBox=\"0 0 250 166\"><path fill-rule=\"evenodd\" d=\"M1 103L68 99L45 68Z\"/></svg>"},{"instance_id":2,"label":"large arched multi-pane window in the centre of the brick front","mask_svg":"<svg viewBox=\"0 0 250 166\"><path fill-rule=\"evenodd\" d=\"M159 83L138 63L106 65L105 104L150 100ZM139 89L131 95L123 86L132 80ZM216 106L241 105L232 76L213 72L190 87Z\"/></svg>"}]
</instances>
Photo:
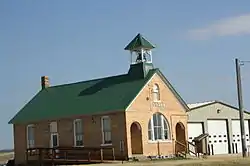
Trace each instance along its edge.
<instances>
[{"instance_id":1,"label":"large arched multi-pane window in the centre of the brick front","mask_svg":"<svg viewBox=\"0 0 250 166\"><path fill-rule=\"evenodd\" d=\"M148 139L151 141L170 139L168 121L161 113L155 113L149 120Z\"/></svg>"}]
</instances>

